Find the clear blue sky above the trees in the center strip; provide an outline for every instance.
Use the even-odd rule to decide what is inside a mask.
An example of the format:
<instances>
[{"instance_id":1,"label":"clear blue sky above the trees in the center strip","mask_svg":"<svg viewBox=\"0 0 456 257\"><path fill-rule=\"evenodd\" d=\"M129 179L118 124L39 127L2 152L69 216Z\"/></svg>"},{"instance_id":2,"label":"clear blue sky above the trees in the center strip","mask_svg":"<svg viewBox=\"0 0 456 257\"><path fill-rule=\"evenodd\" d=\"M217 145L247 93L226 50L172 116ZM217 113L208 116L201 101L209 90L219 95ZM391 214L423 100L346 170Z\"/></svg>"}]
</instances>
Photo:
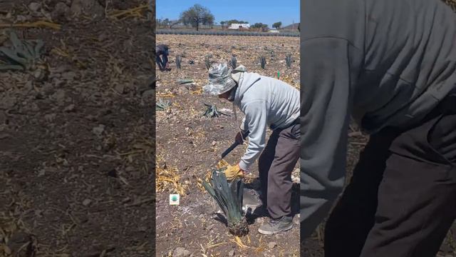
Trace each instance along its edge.
<instances>
[{"instance_id":1,"label":"clear blue sky above the trees in the center strip","mask_svg":"<svg viewBox=\"0 0 456 257\"><path fill-rule=\"evenodd\" d=\"M178 19L180 13L194 4L201 4L211 11L215 21L237 19L250 24L261 22L272 26L277 21L282 26L299 22L299 0L156 0L157 19Z\"/></svg>"}]
</instances>

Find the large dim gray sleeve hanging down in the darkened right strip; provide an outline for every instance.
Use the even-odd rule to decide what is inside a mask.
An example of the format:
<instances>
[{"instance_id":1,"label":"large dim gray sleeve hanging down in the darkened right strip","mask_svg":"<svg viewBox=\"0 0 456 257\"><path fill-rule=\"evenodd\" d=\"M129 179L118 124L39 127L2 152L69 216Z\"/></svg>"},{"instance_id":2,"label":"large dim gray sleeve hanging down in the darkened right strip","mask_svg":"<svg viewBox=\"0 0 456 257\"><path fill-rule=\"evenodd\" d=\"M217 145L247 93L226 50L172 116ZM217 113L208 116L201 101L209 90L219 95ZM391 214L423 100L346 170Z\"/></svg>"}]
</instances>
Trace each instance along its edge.
<instances>
[{"instance_id":1,"label":"large dim gray sleeve hanging down in the darkened right strip","mask_svg":"<svg viewBox=\"0 0 456 257\"><path fill-rule=\"evenodd\" d=\"M301 43L301 238L314 232L341 193L353 86L361 51L345 39Z\"/></svg>"}]
</instances>

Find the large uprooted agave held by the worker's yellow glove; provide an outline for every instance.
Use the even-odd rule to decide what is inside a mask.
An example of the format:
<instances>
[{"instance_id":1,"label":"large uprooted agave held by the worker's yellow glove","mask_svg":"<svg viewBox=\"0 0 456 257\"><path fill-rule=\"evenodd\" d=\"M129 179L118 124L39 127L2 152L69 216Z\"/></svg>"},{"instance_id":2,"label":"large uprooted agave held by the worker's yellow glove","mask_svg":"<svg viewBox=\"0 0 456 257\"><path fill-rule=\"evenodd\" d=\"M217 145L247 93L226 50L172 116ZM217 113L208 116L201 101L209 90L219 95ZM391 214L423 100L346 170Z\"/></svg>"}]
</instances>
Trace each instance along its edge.
<instances>
[{"instance_id":1,"label":"large uprooted agave held by the worker's yellow glove","mask_svg":"<svg viewBox=\"0 0 456 257\"><path fill-rule=\"evenodd\" d=\"M242 178L235 178L233 181L228 182L222 169L214 169L209 182L202 181L202 186L217 201L227 217L229 232L235 236L247 235L249 233L249 225L242 214L244 191Z\"/></svg>"}]
</instances>

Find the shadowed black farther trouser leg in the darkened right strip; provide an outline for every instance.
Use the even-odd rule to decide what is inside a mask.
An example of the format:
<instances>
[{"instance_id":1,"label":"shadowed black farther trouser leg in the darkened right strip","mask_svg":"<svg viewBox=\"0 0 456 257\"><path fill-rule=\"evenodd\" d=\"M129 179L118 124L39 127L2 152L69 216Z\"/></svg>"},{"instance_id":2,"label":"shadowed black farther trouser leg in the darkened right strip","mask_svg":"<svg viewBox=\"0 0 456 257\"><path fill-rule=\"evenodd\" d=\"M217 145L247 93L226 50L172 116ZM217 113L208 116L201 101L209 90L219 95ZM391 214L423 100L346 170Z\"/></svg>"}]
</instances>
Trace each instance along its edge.
<instances>
[{"instance_id":1,"label":"shadowed black farther trouser leg in the darkened right strip","mask_svg":"<svg viewBox=\"0 0 456 257\"><path fill-rule=\"evenodd\" d=\"M377 190L389 156L388 136L373 135L361 152L351 182L326 222L326 257L359 256L374 223Z\"/></svg>"}]
</instances>

